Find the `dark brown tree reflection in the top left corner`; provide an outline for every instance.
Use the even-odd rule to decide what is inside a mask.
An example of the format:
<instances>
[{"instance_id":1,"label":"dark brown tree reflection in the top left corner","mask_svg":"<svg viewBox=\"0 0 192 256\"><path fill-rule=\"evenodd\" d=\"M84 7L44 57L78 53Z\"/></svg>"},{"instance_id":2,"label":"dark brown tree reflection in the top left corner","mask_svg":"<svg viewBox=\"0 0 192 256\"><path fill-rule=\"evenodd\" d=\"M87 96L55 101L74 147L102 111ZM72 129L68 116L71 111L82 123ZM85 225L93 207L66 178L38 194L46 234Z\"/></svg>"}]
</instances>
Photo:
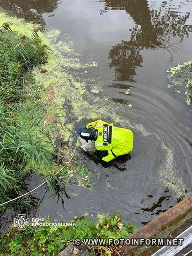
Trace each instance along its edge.
<instances>
[{"instance_id":1,"label":"dark brown tree reflection in the top left corner","mask_svg":"<svg viewBox=\"0 0 192 256\"><path fill-rule=\"evenodd\" d=\"M0 7L10 16L24 18L45 27L42 14L53 12L60 2L61 0L1 0Z\"/></svg>"}]
</instances>

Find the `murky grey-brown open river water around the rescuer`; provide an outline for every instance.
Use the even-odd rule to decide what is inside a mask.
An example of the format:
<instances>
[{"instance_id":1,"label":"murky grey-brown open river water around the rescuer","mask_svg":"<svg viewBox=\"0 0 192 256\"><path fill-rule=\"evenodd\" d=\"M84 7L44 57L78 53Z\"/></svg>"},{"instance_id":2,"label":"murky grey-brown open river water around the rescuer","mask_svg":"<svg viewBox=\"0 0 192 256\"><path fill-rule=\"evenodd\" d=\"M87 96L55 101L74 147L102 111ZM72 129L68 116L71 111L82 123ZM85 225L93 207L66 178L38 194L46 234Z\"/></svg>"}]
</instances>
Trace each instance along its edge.
<instances>
[{"instance_id":1,"label":"murky grey-brown open river water around the rescuer","mask_svg":"<svg viewBox=\"0 0 192 256\"><path fill-rule=\"evenodd\" d=\"M131 156L111 164L78 151L92 172L92 191L71 186L68 197L59 192L52 198L42 187L34 195L36 207L22 213L68 221L76 214L96 219L98 212L119 211L140 227L190 193L192 109L182 93L167 88L165 71L192 60L191 0L1 0L1 7L43 29L58 29L75 42L82 61L96 61L98 69L90 73L101 86L96 97L107 96L122 119L118 125L128 120L134 133ZM38 182L32 174L27 187ZM1 230L20 212L9 208Z\"/></svg>"}]
</instances>

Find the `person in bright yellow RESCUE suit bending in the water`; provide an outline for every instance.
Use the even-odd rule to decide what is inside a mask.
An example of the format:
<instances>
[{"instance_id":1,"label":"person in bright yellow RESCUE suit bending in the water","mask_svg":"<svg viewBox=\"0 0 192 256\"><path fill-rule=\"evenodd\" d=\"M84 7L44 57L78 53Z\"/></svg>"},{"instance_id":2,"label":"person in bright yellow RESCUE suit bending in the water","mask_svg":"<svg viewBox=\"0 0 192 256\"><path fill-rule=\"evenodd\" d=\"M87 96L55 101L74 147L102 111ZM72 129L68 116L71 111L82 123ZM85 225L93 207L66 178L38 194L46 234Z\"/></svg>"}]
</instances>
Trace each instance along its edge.
<instances>
[{"instance_id":1,"label":"person in bright yellow RESCUE suit bending in the water","mask_svg":"<svg viewBox=\"0 0 192 256\"><path fill-rule=\"evenodd\" d=\"M106 123L102 120L88 123L77 134L86 142L88 140L94 141L101 159L106 162L133 150L133 133L131 130L113 126L112 123Z\"/></svg>"}]
</instances>

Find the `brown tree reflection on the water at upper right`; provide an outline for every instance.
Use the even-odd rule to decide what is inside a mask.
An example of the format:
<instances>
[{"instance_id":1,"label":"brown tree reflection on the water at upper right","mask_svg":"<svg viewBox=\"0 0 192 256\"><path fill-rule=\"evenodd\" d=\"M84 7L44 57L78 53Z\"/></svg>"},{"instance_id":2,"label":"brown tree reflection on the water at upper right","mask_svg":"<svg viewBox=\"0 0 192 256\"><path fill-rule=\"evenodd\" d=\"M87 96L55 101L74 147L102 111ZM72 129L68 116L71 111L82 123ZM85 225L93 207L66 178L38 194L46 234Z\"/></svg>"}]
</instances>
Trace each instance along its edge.
<instances>
[{"instance_id":1,"label":"brown tree reflection on the water at upper right","mask_svg":"<svg viewBox=\"0 0 192 256\"><path fill-rule=\"evenodd\" d=\"M122 41L109 52L110 67L115 68L117 80L134 81L136 67L142 66L140 50L157 47L170 48L170 39L179 37L182 42L192 32L191 25L185 25L190 13L181 16L179 12L166 9L165 2L159 11L150 10L147 0L101 0L105 3L101 15L108 10L125 10L136 25L130 29L130 41Z\"/></svg>"}]
</instances>

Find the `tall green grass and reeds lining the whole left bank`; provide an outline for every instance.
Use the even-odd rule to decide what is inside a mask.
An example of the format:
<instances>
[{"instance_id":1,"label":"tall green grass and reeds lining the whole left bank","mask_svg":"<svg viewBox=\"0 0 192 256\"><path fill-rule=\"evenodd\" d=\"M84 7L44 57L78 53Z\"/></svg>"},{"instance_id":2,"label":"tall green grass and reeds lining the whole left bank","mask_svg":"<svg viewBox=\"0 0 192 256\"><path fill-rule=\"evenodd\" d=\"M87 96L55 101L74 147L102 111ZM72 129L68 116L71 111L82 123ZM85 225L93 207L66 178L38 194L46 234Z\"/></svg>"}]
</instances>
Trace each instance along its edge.
<instances>
[{"instance_id":1,"label":"tall green grass and reeds lining the whole left bank","mask_svg":"<svg viewBox=\"0 0 192 256\"><path fill-rule=\"evenodd\" d=\"M0 202L16 196L28 162L51 168L52 148L43 131L45 113L28 88L33 67L46 62L49 49L37 32L31 38L0 27ZM38 89L39 93L39 89Z\"/></svg>"}]
</instances>

